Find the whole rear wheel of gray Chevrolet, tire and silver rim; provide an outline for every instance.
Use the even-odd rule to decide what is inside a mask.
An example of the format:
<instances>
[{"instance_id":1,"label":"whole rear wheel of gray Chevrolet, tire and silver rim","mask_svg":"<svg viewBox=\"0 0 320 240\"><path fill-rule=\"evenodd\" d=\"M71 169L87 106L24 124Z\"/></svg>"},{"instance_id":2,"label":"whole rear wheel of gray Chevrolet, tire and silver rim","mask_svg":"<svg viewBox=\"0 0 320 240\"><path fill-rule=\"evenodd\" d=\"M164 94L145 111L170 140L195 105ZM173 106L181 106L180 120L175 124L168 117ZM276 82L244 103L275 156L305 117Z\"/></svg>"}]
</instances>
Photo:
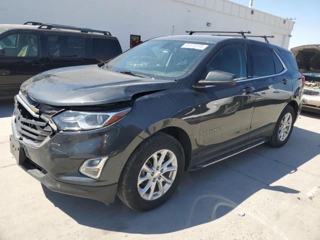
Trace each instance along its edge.
<instances>
[{"instance_id":1,"label":"whole rear wheel of gray Chevrolet, tire and silver rim","mask_svg":"<svg viewBox=\"0 0 320 240\"><path fill-rule=\"evenodd\" d=\"M267 144L272 147L283 146L291 135L294 120L295 114L292 106L286 105L275 123L272 136Z\"/></svg>"}]
</instances>

